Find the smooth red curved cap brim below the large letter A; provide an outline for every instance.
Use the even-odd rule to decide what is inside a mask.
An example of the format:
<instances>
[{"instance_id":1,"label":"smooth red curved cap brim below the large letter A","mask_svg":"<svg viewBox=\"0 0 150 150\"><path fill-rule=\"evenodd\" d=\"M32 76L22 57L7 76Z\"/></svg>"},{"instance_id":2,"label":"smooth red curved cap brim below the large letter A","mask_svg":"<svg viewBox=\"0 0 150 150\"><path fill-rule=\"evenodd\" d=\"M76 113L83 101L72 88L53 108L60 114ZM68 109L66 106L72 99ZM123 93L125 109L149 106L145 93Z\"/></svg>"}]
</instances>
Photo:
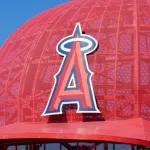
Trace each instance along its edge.
<instances>
[{"instance_id":1,"label":"smooth red curved cap brim below the large letter A","mask_svg":"<svg viewBox=\"0 0 150 150\"><path fill-rule=\"evenodd\" d=\"M76 123L15 123L0 128L0 139L98 140L150 146L150 122L123 121Z\"/></svg>"}]
</instances>

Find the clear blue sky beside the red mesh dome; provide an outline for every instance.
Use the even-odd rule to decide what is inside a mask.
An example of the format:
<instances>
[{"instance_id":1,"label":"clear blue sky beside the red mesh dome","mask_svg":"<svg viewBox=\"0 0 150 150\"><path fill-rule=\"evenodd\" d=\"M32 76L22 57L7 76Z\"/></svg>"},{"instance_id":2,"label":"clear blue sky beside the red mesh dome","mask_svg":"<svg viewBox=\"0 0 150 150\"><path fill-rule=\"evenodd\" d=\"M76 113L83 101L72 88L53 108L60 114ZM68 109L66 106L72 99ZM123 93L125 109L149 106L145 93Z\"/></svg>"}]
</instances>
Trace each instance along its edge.
<instances>
[{"instance_id":1,"label":"clear blue sky beside the red mesh dome","mask_svg":"<svg viewBox=\"0 0 150 150\"><path fill-rule=\"evenodd\" d=\"M70 0L0 0L0 46L28 19Z\"/></svg>"}]
</instances>

